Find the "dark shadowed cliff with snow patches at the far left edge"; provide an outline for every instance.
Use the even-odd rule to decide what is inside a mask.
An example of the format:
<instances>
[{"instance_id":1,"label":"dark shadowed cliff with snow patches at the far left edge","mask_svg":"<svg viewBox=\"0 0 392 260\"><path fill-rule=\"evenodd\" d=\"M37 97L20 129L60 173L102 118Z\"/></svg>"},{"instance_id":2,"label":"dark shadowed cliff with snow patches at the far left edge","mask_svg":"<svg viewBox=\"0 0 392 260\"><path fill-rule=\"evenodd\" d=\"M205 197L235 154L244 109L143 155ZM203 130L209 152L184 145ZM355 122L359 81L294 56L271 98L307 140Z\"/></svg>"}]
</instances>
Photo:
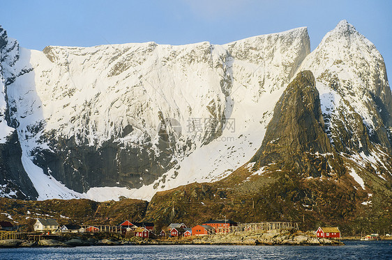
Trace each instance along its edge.
<instances>
[{"instance_id":1,"label":"dark shadowed cliff with snow patches at the far left edge","mask_svg":"<svg viewBox=\"0 0 392 260\"><path fill-rule=\"evenodd\" d=\"M19 46L0 27L0 197L36 199L38 193L25 172L15 126L11 127L7 87L15 81L13 65Z\"/></svg>"}]
</instances>

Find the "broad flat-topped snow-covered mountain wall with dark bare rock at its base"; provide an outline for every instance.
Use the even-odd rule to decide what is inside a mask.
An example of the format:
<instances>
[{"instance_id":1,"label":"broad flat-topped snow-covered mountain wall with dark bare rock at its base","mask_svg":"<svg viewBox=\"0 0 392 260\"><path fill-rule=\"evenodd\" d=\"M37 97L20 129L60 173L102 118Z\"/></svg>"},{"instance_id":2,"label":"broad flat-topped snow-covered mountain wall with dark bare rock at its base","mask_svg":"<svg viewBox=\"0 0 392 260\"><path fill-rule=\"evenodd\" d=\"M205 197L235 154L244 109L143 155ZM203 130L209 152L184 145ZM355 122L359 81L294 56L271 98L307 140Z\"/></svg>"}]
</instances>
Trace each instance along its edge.
<instances>
[{"instance_id":1,"label":"broad flat-topped snow-covered mountain wall with dark bare rock at its base","mask_svg":"<svg viewBox=\"0 0 392 260\"><path fill-rule=\"evenodd\" d=\"M309 52L306 28L225 45L21 48L7 93L38 199L149 199L227 176Z\"/></svg>"}]
</instances>

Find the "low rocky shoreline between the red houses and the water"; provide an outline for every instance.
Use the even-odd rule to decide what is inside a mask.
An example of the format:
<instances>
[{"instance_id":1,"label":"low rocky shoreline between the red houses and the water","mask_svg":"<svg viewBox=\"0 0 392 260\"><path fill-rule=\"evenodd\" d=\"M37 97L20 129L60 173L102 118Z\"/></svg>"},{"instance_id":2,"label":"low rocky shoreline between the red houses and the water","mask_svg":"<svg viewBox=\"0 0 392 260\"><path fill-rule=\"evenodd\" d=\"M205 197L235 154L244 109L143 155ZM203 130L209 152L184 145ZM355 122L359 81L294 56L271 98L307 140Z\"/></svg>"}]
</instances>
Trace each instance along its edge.
<instances>
[{"instance_id":1,"label":"low rocky shoreline between the red houses and the water","mask_svg":"<svg viewBox=\"0 0 392 260\"><path fill-rule=\"evenodd\" d=\"M189 238L102 238L91 236L68 236L61 239L26 241L7 239L0 241L0 247L77 247L93 245L344 245L326 238L315 238L301 231L248 231L213 236Z\"/></svg>"}]
</instances>

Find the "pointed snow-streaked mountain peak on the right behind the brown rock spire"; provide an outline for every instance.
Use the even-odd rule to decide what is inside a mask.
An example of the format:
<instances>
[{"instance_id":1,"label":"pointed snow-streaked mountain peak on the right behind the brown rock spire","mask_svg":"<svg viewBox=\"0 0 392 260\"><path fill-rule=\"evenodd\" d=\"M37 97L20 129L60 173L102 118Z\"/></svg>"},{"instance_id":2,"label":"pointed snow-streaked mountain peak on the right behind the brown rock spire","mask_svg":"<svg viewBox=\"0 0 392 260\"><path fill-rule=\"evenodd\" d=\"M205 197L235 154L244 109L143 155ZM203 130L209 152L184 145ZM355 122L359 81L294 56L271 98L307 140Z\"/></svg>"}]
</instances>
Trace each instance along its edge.
<instances>
[{"instance_id":1,"label":"pointed snow-streaked mountain peak on the right behind the brown rock spire","mask_svg":"<svg viewBox=\"0 0 392 260\"><path fill-rule=\"evenodd\" d=\"M392 97L384 59L372 42L341 21L309 54L299 70L310 70L319 91L326 133L357 182L370 167L391 178ZM362 185L363 186L363 185Z\"/></svg>"}]
</instances>

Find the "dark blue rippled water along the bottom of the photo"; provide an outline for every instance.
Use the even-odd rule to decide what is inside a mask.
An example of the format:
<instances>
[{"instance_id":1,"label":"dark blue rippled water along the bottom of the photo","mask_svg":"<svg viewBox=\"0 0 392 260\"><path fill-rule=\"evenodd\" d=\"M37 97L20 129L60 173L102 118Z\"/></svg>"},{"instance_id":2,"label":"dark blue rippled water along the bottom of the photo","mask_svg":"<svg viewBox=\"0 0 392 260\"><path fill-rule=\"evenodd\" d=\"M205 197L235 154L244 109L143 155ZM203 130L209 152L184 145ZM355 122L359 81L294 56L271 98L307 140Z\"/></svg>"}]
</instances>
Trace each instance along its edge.
<instances>
[{"instance_id":1,"label":"dark blue rippled water along the bottom of the photo","mask_svg":"<svg viewBox=\"0 0 392 260\"><path fill-rule=\"evenodd\" d=\"M122 245L1 248L0 259L392 259L392 241L343 246Z\"/></svg>"}]
</instances>

